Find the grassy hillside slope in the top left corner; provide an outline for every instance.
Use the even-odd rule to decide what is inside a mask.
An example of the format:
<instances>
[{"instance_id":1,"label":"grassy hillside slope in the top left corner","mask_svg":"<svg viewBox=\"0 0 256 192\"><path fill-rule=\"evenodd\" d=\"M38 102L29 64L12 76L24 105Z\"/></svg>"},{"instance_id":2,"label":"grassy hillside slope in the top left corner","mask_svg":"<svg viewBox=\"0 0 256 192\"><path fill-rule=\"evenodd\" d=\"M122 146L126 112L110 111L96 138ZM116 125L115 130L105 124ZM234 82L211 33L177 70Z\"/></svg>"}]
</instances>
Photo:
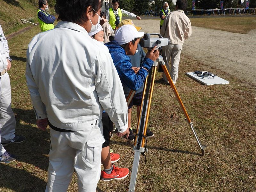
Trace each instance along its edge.
<instances>
[{"instance_id":1,"label":"grassy hillside slope in the top left corner","mask_svg":"<svg viewBox=\"0 0 256 192\"><path fill-rule=\"evenodd\" d=\"M0 0L0 24L4 30L4 34L7 35L20 28L31 25L23 24L20 19L37 23L37 8L38 0ZM49 11L54 12L51 4Z\"/></svg>"}]
</instances>

